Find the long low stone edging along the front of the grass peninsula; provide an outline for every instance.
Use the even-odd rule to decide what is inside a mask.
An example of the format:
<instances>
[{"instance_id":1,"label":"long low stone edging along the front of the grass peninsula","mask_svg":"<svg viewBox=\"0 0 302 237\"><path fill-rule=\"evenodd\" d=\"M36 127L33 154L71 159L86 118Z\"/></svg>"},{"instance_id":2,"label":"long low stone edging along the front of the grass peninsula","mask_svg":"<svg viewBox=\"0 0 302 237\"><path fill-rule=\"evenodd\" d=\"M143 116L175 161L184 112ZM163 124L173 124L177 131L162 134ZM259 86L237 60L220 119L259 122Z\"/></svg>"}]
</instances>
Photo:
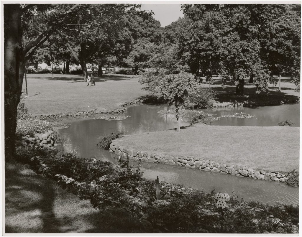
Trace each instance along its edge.
<instances>
[{"instance_id":1,"label":"long low stone edging along the front of the grass peninsula","mask_svg":"<svg viewBox=\"0 0 302 237\"><path fill-rule=\"evenodd\" d=\"M254 179L262 179L267 181L272 180L272 181L285 182L288 180L288 178L286 178L288 173L270 172L264 170L257 171L248 167L240 167L238 165L232 165L230 163L220 164L219 162L216 161L204 160L192 156L172 156L172 155L162 155L156 153L142 152L133 149L126 149L121 145L113 145L113 143L110 144L109 151L124 158L127 158L128 155L129 159L143 160L146 162L179 165L179 166L201 169L205 171L220 172L224 174L250 177Z\"/></svg>"}]
</instances>

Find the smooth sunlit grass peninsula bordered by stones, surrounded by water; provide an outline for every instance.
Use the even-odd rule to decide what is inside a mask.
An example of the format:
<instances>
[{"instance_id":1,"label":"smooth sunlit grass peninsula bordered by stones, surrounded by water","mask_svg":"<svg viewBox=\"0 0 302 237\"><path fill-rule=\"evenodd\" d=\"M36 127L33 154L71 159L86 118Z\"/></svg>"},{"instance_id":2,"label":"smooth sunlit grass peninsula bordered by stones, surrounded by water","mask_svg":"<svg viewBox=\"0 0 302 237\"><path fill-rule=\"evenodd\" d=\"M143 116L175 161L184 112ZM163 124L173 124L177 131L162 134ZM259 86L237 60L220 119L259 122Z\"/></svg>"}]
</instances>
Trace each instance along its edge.
<instances>
[{"instance_id":1,"label":"smooth sunlit grass peninsula bordered by stones, surrounded by water","mask_svg":"<svg viewBox=\"0 0 302 237\"><path fill-rule=\"evenodd\" d=\"M299 127L194 125L126 135L114 140L127 149L173 156L195 156L268 171L299 169Z\"/></svg>"}]
</instances>

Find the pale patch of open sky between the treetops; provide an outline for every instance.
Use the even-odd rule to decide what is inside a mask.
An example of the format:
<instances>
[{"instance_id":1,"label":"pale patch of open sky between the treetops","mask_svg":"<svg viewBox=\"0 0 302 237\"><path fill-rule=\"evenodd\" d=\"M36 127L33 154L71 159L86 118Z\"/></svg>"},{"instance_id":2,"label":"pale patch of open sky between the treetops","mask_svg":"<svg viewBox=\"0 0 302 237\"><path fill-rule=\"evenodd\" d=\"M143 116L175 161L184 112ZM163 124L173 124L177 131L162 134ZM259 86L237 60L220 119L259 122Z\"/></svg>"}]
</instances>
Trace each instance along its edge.
<instances>
[{"instance_id":1,"label":"pale patch of open sky between the treetops","mask_svg":"<svg viewBox=\"0 0 302 237\"><path fill-rule=\"evenodd\" d=\"M153 18L160 21L162 27L184 16L180 7L180 4L142 4L142 10L152 10Z\"/></svg>"}]
</instances>

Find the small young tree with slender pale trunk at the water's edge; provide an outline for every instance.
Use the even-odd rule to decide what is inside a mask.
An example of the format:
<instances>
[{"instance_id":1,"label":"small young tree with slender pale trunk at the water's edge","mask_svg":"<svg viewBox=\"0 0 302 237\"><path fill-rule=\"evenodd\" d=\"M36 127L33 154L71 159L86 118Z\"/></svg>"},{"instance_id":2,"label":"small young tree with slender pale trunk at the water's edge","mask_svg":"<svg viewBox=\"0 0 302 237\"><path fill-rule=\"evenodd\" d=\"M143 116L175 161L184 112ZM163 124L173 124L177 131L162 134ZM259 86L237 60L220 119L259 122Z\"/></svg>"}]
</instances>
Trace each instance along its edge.
<instances>
[{"instance_id":1,"label":"small young tree with slender pale trunk at the water's edge","mask_svg":"<svg viewBox=\"0 0 302 237\"><path fill-rule=\"evenodd\" d=\"M176 109L177 132L180 131L179 118L180 107L184 106L189 94L196 90L198 82L194 75L188 72L178 74L163 75L162 71L151 71L146 73L140 80L142 84L147 84L143 89L155 94L159 98L168 101L168 105L174 105Z\"/></svg>"}]
</instances>

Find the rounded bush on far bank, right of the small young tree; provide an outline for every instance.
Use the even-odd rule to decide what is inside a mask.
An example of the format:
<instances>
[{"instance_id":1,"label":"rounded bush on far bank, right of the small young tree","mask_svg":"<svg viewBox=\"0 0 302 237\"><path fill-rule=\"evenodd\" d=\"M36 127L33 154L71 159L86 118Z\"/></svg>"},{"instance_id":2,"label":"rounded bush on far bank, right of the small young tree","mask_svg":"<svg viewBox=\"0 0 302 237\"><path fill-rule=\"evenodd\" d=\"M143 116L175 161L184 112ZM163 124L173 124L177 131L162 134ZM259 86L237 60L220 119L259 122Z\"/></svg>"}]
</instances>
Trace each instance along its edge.
<instances>
[{"instance_id":1,"label":"rounded bush on far bank, right of the small young tree","mask_svg":"<svg viewBox=\"0 0 302 237\"><path fill-rule=\"evenodd\" d=\"M214 105L216 92L210 88L198 88L198 90L191 94L188 98L188 105L197 108L212 108Z\"/></svg>"}]
</instances>

